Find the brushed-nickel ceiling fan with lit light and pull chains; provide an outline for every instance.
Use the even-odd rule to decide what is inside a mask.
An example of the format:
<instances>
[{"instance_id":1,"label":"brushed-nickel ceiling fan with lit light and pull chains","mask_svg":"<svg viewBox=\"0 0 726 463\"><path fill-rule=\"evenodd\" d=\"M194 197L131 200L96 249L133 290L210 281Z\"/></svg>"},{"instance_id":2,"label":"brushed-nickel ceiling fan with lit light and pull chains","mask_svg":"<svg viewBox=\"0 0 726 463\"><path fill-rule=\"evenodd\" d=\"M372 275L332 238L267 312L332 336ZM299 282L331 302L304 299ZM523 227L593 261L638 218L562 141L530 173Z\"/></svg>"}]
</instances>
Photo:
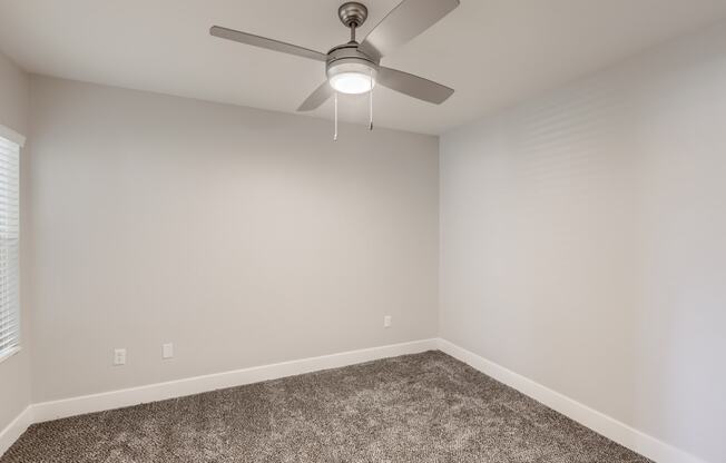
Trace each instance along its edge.
<instances>
[{"instance_id":1,"label":"brushed-nickel ceiling fan with lit light and pull chains","mask_svg":"<svg viewBox=\"0 0 726 463\"><path fill-rule=\"evenodd\" d=\"M355 30L363 26L369 12L364 4L349 1L339 8L337 16L343 24L350 28L351 40L333 47L327 53L219 26L214 26L209 33L223 39L325 62L327 80L303 101L297 108L298 111L313 110L332 96L336 97L337 102L337 92L372 92L376 83L440 105L454 92L453 89L419 76L383 67L381 58L429 29L458 6L459 0L403 0L359 43L355 40Z\"/></svg>"}]
</instances>

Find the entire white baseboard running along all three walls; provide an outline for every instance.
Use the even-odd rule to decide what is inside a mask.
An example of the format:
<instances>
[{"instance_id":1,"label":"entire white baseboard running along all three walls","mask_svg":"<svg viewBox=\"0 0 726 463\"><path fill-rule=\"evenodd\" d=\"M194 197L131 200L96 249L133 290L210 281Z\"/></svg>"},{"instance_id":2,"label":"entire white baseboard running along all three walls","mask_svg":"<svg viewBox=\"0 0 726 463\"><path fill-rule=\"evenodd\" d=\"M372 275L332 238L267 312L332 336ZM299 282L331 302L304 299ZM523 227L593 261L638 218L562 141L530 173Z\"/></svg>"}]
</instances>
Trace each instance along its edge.
<instances>
[{"instance_id":1,"label":"entire white baseboard running along all three walls","mask_svg":"<svg viewBox=\"0 0 726 463\"><path fill-rule=\"evenodd\" d=\"M234 387L321 370L337 368L379 358L416 354L432 349L440 349L471 365L494 380L518 390L595 432L658 463L707 463L532 380L459 347L449 341L439 338L343 352L340 354L254 366L232 372L33 404L28 406L12 423L0 432L0 455L32 423L182 397L225 387Z\"/></svg>"}]
</instances>

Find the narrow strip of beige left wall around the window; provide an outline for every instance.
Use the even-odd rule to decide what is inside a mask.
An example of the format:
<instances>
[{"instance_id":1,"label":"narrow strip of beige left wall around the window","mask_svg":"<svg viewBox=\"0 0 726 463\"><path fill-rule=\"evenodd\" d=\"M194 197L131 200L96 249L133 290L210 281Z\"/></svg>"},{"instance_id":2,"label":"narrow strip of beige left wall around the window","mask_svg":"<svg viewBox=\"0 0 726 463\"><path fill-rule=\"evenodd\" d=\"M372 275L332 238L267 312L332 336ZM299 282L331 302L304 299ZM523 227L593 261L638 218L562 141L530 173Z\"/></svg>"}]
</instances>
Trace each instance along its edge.
<instances>
[{"instance_id":1,"label":"narrow strip of beige left wall around the window","mask_svg":"<svg viewBox=\"0 0 726 463\"><path fill-rule=\"evenodd\" d=\"M0 124L12 130L28 135L28 76L12 61L0 53ZM28 214L28 191L30 144L26 145L20 158L20 220L21 220L21 351L0 362L0 431L30 404L30 299L27 290L27 268L29 260L30 216Z\"/></svg>"}]
</instances>

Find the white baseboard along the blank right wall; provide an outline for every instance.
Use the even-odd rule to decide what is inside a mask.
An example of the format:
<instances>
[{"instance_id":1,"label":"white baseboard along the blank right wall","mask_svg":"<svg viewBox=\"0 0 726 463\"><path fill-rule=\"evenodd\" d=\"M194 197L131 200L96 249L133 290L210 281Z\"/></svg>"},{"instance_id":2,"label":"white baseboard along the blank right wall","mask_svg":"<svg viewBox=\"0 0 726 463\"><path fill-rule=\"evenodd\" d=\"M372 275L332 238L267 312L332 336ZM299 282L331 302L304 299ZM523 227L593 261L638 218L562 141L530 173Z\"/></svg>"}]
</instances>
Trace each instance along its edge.
<instances>
[{"instance_id":1,"label":"white baseboard along the blank right wall","mask_svg":"<svg viewBox=\"0 0 726 463\"><path fill-rule=\"evenodd\" d=\"M707 463L447 339L439 349L657 463Z\"/></svg>"}]
</instances>

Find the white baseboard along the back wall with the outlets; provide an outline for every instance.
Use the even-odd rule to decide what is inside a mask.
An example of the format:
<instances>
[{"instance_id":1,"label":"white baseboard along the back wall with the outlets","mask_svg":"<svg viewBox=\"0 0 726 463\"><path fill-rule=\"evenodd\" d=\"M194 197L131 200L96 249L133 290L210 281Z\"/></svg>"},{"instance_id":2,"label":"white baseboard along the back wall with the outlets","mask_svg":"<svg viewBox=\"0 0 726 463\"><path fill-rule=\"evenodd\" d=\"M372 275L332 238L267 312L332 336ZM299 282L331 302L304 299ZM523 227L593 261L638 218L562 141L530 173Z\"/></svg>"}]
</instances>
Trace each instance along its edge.
<instances>
[{"instance_id":1,"label":"white baseboard along the back wall with the outlets","mask_svg":"<svg viewBox=\"0 0 726 463\"><path fill-rule=\"evenodd\" d=\"M35 423L40 423L436 348L439 348L438 339L422 339L42 402L32 405L32 417Z\"/></svg>"}]
</instances>

